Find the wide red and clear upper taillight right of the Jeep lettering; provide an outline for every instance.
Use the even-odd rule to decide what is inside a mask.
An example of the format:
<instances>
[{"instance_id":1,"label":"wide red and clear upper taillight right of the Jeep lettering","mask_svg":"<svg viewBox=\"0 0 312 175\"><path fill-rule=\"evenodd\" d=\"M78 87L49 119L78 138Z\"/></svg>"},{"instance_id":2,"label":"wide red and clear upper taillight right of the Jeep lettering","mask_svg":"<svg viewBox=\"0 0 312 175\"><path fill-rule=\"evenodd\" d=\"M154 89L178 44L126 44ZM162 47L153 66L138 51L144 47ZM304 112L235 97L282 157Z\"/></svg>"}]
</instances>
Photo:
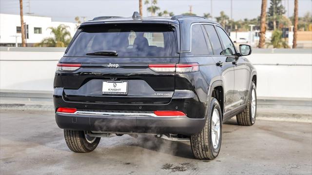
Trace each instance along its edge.
<instances>
[{"instance_id":1,"label":"wide red and clear upper taillight right of the Jeep lettering","mask_svg":"<svg viewBox=\"0 0 312 175\"><path fill-rule=\"evenodd\" d=\"M190 73L199 70L198 63L149 64L148 67L159 73Z\"/></svg>"}]
</instances>

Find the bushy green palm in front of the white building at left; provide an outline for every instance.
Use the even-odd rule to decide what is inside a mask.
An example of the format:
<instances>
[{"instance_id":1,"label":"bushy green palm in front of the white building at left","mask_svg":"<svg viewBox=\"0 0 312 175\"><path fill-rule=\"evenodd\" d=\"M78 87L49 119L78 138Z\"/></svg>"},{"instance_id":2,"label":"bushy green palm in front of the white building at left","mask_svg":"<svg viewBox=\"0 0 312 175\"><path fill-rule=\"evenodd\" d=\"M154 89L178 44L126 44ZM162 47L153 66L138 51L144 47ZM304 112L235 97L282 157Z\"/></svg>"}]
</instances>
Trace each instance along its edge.
<instances>
[{"instance_id":1,"label":"bushy green palm in front of the white building at left","mask_svg":"<svg viewBox=\"0 0 312 175\"><path fill-rule=\"evenodd\" d=\"M58 27L49 27L51 34L54 37L49 37L42 39L42 41L36 46L45 46L45 47L67 47L70 40L70 32L67 30L68 26L60 24Z\"/></svg>"}]
</instances>

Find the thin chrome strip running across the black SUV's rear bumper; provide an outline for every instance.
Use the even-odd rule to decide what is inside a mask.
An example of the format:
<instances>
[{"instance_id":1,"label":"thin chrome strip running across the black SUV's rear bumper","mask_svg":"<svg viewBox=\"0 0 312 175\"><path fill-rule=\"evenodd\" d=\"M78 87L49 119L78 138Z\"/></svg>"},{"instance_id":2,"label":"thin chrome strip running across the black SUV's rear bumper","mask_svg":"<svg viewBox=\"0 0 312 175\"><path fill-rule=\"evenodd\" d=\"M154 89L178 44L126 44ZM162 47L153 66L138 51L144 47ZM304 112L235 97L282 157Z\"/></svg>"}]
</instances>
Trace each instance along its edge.
<instances>
[{"instance_id":1,"label":"thin chrome strip running across the black SUV's rear bumper","mask_svg":"<svg viewBox=\"0 0 312 175\"><path fill-rule=\"evenodd\" d=\"M81 116L102 116L102 117L186 117L186 116L157 116L154 113L114 113L114 112L92 112L92 111L76 111L75 113L62 113L57 114L66 115L81 115Z\"/></svg>"}]
</instances>

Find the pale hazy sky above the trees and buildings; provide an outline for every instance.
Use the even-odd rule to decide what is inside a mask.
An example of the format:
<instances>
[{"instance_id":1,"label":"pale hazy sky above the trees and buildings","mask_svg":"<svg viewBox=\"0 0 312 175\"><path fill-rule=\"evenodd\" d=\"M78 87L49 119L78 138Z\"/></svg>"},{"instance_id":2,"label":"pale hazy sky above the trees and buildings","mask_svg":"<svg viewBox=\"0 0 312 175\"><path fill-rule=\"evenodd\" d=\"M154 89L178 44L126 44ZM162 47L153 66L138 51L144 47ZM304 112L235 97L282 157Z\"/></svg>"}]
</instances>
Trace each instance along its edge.
<instances>
[{"instance_id":1,"label":"pale hazy sky above the trees and buildings","mask_svg":"<svg viewBox=\"0 0 312 175\"><path fill-rule=\"evenodd\" d=\"M143 1L143 16L147 14ZM298 0L298 13L312 13L312 0ZM30 4L30 8L29 8ZM232 0L232 18L253 19L260 16L261 0ZM286 16L292 16L294 0L282 0L286 8ZM167 10L175 15L189 11L192 5L193 13L203 16L210 13L217 17L220 11L224 11L231 17L231 0L158 0L160 11ZM270 6L270 0L267 4ZM0 13L20 14L19 0L0 0ZM28 12L34 16L52 17L53 21L75 22L75 17L85 17L86 20L98 16L130 17L134 11L138 11L138 0L23 0L24 15ZM159 12L160 12L159 11Z\"/></svg>"}]
</instances>

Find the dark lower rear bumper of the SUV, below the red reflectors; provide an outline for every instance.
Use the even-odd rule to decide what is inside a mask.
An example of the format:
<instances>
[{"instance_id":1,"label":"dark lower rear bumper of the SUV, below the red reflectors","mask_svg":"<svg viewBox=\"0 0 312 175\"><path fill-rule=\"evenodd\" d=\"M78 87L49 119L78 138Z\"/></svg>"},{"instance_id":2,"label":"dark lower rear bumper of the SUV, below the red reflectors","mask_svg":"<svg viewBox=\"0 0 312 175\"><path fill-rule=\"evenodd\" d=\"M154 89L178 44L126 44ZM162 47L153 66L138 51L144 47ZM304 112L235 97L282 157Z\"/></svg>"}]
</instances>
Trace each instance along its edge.
<instances>
[{"instance_id":1,"label":"dark lower rear bumper of the SUV, below the red reflectors","mask_svg":"<svg viewBox=\"0 0 312 175\"><path fill-rule=\"evenodd\" d=\"M100 116L79 114L55 114L61 129L142 134L194 135L201 132L206 118Z\"/></svg>"}]
</instances>

